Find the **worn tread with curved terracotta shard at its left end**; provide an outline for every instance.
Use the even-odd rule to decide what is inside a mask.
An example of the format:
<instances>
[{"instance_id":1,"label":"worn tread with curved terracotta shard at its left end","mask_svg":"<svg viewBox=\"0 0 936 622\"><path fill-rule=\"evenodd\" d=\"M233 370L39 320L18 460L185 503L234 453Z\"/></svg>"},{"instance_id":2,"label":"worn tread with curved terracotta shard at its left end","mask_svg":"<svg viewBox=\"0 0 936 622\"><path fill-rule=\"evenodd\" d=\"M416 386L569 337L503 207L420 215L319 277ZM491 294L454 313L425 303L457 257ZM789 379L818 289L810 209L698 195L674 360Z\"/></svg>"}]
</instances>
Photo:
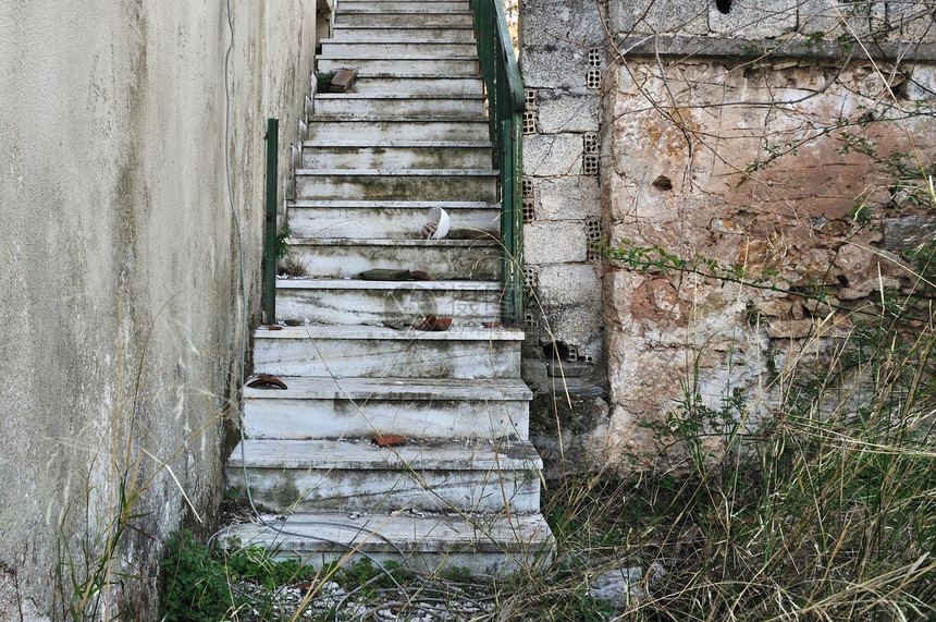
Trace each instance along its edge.
<instances>
[{"instance_id":1,"label":"worn tread with curved terracotta shard at its left end","mask_svg":"<svg viewBox=\"0 0 936 622\"><path fill-rule=\"evenodd\" d=\"M247 400L520 400L532 391L519 378L332 378L330 376L282 376L282 389L244 388Z\"/></svg>"}]
</instances>

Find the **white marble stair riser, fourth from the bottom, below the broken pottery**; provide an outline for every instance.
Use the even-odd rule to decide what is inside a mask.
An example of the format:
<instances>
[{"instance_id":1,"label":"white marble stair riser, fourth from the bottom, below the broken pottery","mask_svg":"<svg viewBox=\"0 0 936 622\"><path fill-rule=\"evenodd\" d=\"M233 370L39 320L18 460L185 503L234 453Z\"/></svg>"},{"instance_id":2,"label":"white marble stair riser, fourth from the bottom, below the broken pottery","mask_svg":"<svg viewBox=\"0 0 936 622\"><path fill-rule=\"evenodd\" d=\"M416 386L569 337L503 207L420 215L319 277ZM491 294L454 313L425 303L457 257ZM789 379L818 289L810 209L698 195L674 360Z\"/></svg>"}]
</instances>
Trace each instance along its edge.
<instances>
[{"instance_id":1,"label":"white marble stair riser, fourth from the bottom, below the broken pottery","mask_svg":"<svg viewBox=\"0 0 936 622\"><path fill-rule=\"evenodd\" d=\"M484 331L479 329L479 333ZM258 339L254 368L275 376L519 378L516 342Z\"/></svg>"}]
</instances>

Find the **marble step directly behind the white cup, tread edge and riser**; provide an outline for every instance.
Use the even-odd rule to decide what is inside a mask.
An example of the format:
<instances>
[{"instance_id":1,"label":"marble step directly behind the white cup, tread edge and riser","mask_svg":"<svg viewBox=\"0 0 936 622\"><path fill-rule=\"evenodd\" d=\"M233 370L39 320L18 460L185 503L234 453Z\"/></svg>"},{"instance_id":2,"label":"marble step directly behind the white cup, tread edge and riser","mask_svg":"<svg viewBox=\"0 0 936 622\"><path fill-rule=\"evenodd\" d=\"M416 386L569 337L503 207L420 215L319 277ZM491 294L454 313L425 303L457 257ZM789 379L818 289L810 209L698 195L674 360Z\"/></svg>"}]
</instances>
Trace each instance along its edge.
<instances>
[{"instance_id":1,"label":"marble step directly behind the white cup, tread edge and riser","mask_svg":"<svg viewBox=\"0 0 936 622\"><path fill-rule=\"evenodd\" d=\"M418 234L434 207L448 214L453 232L500 235L501 206L484 202L298 200L288 218L295 237L393 240Z\"/></svg>"}]
</instances>

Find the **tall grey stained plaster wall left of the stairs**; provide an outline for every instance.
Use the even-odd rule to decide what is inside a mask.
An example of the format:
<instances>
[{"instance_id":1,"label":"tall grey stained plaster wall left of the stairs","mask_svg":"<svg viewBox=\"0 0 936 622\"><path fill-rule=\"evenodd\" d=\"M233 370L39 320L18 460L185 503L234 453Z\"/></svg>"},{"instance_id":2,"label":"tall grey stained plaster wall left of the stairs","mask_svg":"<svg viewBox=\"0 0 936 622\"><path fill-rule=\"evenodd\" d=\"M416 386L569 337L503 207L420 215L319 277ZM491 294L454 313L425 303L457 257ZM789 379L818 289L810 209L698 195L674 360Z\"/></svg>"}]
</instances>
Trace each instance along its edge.
<instances>
[{"instance_id":1,"label":"tall grey stained plaster wall left of the stairs","mask_svg":"<svg viewBox=\"0 0 936 622\"><path fill-rule=\"evenodd\" d=\"M57 571L85 563L137 461L135 525L152 539L128 533L119 568L146 581L115 588L110 613L155 619L160 542L195 522L156 460L202 517L219 499L241 318L258 315L266 119L281 119L287 166L315 45L313 0L235 5L248 309L224 2L0 7L0 620L61 618Z\"/></svg>"}]
</instances>

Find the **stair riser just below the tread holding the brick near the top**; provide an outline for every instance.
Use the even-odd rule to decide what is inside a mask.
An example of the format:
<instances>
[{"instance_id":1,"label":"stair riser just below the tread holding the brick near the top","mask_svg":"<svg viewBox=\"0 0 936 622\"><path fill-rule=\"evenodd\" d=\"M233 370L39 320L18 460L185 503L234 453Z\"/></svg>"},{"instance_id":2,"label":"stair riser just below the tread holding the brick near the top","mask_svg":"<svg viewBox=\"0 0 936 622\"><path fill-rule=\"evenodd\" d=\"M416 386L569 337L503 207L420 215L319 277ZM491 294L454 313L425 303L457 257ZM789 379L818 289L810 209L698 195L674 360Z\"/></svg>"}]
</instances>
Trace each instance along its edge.
<instances>
[{"instance_id":1,"label":"stair riser just below the tread holding the brick near the top","mask_svg":"<svg viewBox=\"0 0 936 622\"><path fill-rule=\"evenodd\" d=\"M349 114L352 117L452 114L461 119L484 118L484 101L477 98L362 99L317 97L315 107L316 114Z\"/></svg>"}]
</instances>

